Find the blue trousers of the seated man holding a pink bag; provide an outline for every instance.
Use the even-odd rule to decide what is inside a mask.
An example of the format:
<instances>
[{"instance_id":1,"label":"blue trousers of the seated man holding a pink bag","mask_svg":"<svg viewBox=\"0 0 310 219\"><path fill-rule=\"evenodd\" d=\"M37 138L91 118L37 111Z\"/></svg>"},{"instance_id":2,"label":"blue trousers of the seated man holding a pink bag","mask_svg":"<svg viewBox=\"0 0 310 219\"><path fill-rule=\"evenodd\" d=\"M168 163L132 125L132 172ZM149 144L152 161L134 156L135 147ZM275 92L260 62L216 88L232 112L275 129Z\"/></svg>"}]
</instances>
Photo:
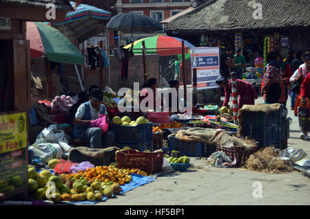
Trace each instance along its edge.
<instances>
[{"instance_id":1,"label":"blue trousers of the seated man holding a pink bag","mask_svg":"<svg viewBox=\"0 0 310 219\"><path fill-rule=\"evenodd\" d=\"M87 128L80 139L90 148L107 148L114 143L115 134L109 130L102 134L101 128Z\"/></svg>"}]
</instances>

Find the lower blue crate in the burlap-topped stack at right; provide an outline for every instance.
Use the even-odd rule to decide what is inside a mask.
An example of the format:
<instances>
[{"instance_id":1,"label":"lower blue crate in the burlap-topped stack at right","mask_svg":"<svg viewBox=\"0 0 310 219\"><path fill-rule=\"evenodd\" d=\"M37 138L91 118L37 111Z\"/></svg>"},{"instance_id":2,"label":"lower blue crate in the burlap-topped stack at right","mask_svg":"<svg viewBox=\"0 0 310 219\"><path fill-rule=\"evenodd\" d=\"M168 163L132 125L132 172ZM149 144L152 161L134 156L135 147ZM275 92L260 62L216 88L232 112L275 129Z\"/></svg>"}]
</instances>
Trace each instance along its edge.
<instances>
[{"instance_id":1,"label":"lower blue crate in the burlap-topped stack at right","mask_svg":"<svg viewBox=\"0 0 310 219\"><path fill-rule=\"evenodd\" d=\"M244 129L244 137L254 139L258 142L258 148L265 148L275 143L279 143L282 140L282 128L278 124L269 126L249 126Z\"/></svg>"}]
</instances>

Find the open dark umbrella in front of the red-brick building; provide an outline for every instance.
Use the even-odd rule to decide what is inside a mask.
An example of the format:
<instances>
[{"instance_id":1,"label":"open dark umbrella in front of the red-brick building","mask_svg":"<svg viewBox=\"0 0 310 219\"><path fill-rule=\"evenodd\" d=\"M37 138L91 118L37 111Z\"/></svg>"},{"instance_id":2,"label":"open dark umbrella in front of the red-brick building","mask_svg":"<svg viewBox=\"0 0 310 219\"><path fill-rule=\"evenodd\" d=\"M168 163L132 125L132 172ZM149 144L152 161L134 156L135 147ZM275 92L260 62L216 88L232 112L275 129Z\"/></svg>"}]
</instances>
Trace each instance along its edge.
<instances>
[{"instance_id":1,"label":"open dark umbrella in front of the red-brick building","mask_svg":"<svg viewBox=\"0 0 310 219\"><path fill-rule=\"evenodd\" d=\"M163 27L148 16L136 13L125 13L113 16L107 23L107 29L121 31L123 33L132 32L156 32Z\"/></svg>"}]
</instances>

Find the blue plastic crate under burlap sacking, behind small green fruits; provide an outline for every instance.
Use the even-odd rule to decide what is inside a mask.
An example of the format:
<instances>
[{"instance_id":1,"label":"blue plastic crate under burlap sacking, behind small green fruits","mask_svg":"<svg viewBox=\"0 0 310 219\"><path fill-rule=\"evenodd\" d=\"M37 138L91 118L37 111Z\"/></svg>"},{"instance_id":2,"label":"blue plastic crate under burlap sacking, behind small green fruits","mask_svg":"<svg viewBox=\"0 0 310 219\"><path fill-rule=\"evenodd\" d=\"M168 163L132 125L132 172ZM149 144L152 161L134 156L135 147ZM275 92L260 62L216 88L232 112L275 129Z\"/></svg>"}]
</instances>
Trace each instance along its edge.
<instances>
[{"instance_id":1,"label":"blue plastic crate under burlap sacking, behind small green fruits","mask_svg":"<svg viewBox=\"0 0 310 219\"><path fill-rule=\"evenodd\" d=\"M190 142L190 141L180 141L174 136L169 136L169 152L171 154L172 150L177 150L180 152L181 156L194 156L198 157L203 154L203 143L202 142Z\"/></svg>"}]
</instances>

